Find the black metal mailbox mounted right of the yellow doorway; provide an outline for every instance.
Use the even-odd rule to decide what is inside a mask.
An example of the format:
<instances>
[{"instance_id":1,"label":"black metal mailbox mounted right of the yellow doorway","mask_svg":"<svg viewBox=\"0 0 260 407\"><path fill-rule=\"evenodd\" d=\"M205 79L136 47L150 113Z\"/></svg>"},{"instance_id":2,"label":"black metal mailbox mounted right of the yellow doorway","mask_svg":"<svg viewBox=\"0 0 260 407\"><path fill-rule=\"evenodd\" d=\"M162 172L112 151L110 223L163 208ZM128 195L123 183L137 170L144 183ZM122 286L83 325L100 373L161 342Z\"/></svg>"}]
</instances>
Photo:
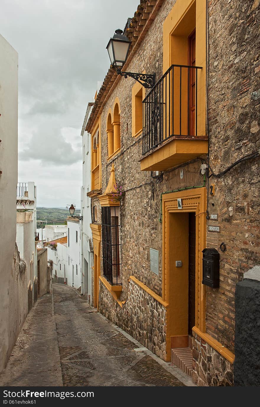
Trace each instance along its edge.
<instances>
[{"instance_id":1,"label":"black metal mailbox mounted right of the yellow doorway","mask_svg":"<svg viewBox=\"0 0 260 407\"><path fill-rule=\"evenodd\" d=\"M202 284L212 288L219 287L219 252L216 249L204 249Z\"/></svg>"}]
</instances>

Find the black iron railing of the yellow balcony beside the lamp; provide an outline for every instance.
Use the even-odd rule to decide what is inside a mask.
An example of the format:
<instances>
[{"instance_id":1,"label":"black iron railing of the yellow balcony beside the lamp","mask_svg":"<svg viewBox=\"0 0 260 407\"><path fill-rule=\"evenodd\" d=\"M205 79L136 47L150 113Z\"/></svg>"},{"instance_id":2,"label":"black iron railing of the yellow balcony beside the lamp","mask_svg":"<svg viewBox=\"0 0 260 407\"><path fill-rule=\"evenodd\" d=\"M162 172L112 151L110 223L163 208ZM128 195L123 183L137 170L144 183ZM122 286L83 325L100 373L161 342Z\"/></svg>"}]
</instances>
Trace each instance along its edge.
<instances>
[{"instance_id":1,"label":"black iron railing of the yellow balcony beside the lamp","mask_svg":"<svg viewBox=\"0 0 260 407\"><path fill-rule=\"evenodd\" d=\"M143 100L143 154L170 137L197 136L200 66L172 65Z\"/></svg>"}]
</instances>

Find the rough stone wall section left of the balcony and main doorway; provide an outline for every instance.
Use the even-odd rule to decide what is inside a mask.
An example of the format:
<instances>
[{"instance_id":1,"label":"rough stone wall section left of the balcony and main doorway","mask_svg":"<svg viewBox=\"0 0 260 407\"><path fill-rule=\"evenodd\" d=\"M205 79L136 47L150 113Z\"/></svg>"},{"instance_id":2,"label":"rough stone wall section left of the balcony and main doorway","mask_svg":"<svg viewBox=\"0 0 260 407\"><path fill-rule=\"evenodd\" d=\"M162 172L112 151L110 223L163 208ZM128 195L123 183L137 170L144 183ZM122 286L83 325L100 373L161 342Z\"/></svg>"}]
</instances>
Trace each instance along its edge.
<instances>
[{"instance_id":1,"label":"rough stone wall section left of the balcony and main doorway","mask_svg":"<svg viewBox=\"0 0 260 407\"><path fill-rule=\"evenodd\" d=\"M166 0L150 27L143 43L128 66L130 72L156 72L156 81L163 74L163 22L173 7L174 1ZM117 182L123 186L126 195L121 201L120 243L121 243L121 281L122 294L128 289L130 275L137 277L158 295L162 295L162 224L160 217L161 193L186 186L202 185L199 174L200 162L184 169L180 179L180 170L164 173L163 182L156 184L150 171L140 171L139 160L142 155L142 136L132 137L132 86L134 79L121 79L108 98L101 117L100 142L102 157L102 191L106 189L112 162L115 166ZM146 90L148 93L149 90ZM108 146L106 119L112 109L115 98L120 102L121 151L112 160L107 161ZM154 173L155 175L155 173ZM92 199L101 223L101 211L98 199ZM150 247L159 251L159 275L150 272ZM102 254L102 249L101 249ZM102 261L101 261L102 266Z\"/></svg>"}]
</instances>

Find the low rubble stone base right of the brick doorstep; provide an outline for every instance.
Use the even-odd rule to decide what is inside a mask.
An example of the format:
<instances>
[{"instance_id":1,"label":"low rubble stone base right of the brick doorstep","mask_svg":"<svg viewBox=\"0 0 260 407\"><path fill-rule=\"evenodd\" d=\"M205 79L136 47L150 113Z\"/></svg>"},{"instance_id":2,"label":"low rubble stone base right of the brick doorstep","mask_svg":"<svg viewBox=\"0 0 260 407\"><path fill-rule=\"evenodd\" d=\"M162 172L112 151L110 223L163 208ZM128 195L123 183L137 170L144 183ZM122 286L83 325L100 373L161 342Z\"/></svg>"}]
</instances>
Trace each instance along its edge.
<instances>
[{"instance_id":1,"label":"low rubble stone base right of the brick doorstep","mask_svg":"<svg viewBox=\"0 0 260 407\"><path fill-rule=\"evenodd\" d=\"M232 386L233 365L199 335L193 333L193 375L198 386Z\"/></svg>"}]
</instances>

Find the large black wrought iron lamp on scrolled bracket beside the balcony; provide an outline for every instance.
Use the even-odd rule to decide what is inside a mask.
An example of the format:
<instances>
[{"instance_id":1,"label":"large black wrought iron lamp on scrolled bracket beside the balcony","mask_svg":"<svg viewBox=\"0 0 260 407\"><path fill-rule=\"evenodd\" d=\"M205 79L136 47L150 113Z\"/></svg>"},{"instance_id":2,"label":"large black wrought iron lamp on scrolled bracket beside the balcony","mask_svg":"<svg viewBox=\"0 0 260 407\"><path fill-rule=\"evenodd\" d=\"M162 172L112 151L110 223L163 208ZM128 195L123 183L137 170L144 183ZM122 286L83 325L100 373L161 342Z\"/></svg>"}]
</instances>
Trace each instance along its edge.
<instances>
[{"instance_id":1,"label":"large black wrought iron lamp on scrolled bracket beside the balcony","mask_svg":"<svg viewBox=\"0 0 260 407\"><path fill-rule=\"evenodd\" d=\"M155 73L154 74L140 74L135 72L123 72L122 66L126 62L131 41L126 35L122 35L123 31L117 29L113 38L111 38L106 46L108 55L111 61L111 65L115 68L118 75L125 78L134 78L137 82L141 83L144 88L153 88L155 85Z\"/></svg>"}]
</instances>

